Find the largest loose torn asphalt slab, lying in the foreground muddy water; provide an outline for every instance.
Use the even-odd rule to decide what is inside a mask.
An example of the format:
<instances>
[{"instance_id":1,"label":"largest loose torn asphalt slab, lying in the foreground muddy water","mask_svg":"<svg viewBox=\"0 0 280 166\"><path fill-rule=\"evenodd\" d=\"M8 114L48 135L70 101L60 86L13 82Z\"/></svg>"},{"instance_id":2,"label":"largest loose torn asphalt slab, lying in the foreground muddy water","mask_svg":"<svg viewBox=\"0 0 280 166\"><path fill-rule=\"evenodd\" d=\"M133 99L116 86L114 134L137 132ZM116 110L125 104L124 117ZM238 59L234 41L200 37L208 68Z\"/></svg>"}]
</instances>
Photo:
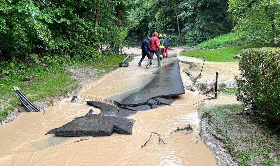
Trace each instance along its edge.
<instances>
[{"instance_id":1,"label":"largest loose torn asphalt slab, lying in the foreground muddy water","mask_svg":"<svg viewBox=\"0 0 280 166\"><path fill-rule=\"evenodd\" d=\"M90 114L49 130L46 134L54 133L57 136L111 136L114 131L119 134L132 134L134 121L117 116Z\"/></svg>"}]
</instances>

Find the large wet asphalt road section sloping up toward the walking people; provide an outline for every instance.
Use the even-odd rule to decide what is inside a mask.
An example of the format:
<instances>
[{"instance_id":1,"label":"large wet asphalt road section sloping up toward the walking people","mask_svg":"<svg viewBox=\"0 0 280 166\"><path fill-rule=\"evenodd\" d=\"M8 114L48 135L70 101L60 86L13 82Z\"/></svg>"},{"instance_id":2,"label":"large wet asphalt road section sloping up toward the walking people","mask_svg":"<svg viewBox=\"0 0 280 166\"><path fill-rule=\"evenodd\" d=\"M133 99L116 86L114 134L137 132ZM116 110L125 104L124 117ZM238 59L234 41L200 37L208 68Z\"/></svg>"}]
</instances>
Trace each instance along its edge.
<instances>
[{"instance_id":1,"label":"large wet asphalt road section sloping up toward the walking people","mask_svg":"<svg viewBox=\"0 0 280 166\"><path fill-rule=\"evenodd\" d=\"M115 100L116 104L118 104L118 106L121 108L137 107L140 105L151 106L155 104L153 103L153 100L156 98L172 98L184 94L185 89L180 75L178 60L177 57L174 58L176 58L176 61L169 63L164 68L159 69L155 73L155 78L141 90L130 94L121 101ZM161 101L163 100L160 99L160 102ZM169 105L173 102L171 101L164 101L157 104Z\"/></svg>"}]
</instances>

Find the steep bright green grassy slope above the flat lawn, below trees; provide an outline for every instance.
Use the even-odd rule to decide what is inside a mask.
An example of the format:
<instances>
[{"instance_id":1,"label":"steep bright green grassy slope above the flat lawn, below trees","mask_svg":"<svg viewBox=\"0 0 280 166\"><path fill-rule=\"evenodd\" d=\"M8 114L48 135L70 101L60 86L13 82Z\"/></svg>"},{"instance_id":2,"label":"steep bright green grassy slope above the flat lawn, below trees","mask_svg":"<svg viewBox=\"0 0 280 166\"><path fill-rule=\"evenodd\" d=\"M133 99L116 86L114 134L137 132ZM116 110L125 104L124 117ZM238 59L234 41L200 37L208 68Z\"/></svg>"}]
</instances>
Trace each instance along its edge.
<instances>
[{"instance_id":1,"label":"steep bright green grassy slope above the flat lawn, below trees","mask_svg":"<svg viewBox=\"0 0 280 166\"><path fill-rule=\"evenodd\" d=\"M238 46L242 44L243 42L239 39L238 33L227 33L218 36L214 39L210 39L200 44L197 44L196 47L198 49L209 50L222 47Z\"/></svg>"}]
</instances>

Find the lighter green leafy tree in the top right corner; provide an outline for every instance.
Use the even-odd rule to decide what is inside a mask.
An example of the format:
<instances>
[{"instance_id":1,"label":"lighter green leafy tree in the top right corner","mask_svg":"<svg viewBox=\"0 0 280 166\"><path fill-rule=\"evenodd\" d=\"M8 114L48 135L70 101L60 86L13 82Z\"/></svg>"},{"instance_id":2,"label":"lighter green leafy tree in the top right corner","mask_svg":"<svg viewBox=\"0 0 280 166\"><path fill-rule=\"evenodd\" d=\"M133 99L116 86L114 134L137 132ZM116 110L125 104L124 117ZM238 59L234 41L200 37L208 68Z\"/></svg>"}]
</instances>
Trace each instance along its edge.
<instances>
[{"instance_id":1,"label":"lighter green leafy tree in the top right corner","mask_svg":"<svg viewBox=\"0 0 280 166\"><path fill-rule=\"evenodd\" d=\"M234 30L247 42L277 44L280 38L279 0L230 0L229 12L238 23Z\"/></svg>"}]
</instances>

